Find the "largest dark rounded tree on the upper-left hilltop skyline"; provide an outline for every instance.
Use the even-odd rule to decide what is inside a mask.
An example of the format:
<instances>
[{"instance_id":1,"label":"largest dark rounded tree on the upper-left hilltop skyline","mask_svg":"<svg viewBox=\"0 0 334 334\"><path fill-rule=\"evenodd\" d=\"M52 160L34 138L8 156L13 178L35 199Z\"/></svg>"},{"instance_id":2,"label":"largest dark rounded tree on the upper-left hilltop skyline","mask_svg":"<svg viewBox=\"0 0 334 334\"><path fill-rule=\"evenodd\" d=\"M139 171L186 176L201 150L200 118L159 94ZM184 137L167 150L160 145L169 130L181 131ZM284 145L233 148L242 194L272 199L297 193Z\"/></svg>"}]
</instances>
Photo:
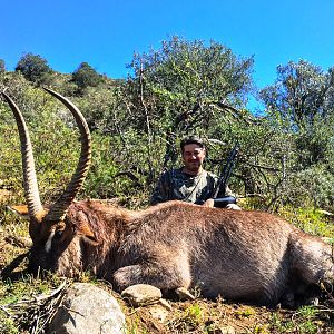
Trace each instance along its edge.
<instances>
[{"instance_id":1,"label":"largest dark rounded tree on the upper-left hilltop skyline","mask_svg":"<svg viewBox=\"0 0 334 334\"><path fill-rule=\"evenodd\" d=\"M36 84L46 82L53 72L46 59L31 52L20 58L16 71L20 71L27 80Z\"/></svg>"}]
</instances>

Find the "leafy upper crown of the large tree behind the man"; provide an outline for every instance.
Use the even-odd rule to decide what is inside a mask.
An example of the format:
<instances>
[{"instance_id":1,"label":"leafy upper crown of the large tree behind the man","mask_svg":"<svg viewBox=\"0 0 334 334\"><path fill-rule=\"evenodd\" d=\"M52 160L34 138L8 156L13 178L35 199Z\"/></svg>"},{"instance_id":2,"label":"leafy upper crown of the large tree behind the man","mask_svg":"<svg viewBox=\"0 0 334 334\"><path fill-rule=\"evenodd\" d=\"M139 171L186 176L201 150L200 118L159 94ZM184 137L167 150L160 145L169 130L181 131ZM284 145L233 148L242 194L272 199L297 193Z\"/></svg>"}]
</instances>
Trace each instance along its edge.
<instances>
[{"instance_id":1,"label":"leafy upper crown of the large tree behind the man","mask_svg":"<svg viewBox=\"0 0 334 334\"><path fill-rule=\"evenodd\" d=\"M252 66L252 58L238 59L217 42L205 46L203 41L173 37L157 51L134 56L134 76L128 84L136 95L135 104L139 104L136 107L144 109L146 101L150 118L161 119L165 114L181 122L203 111L198 105L245 106Z\"/></svg>"}]
</instances>

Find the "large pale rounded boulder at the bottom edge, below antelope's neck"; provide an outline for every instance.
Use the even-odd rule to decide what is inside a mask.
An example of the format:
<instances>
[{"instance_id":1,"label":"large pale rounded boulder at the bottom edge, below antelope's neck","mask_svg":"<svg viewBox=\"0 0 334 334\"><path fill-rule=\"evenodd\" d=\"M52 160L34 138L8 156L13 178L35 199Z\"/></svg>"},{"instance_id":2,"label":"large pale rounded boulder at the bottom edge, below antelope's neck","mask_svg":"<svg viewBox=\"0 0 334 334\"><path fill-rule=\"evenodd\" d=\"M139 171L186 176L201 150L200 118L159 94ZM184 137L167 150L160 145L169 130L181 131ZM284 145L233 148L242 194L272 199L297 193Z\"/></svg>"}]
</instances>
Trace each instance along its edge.
<instances>
[{"instance_id":1,"label":"large pale rounded boulder at the bottom edge, below antelope's neck","mask_svg":"<svg viewBox=\"0 0 334 334\"><path fill-rule=\"evenodd\" d=\"M126 333L125 315L106 291L88 283L71 285L47 333Z\"/></svg>"}]
</instances>

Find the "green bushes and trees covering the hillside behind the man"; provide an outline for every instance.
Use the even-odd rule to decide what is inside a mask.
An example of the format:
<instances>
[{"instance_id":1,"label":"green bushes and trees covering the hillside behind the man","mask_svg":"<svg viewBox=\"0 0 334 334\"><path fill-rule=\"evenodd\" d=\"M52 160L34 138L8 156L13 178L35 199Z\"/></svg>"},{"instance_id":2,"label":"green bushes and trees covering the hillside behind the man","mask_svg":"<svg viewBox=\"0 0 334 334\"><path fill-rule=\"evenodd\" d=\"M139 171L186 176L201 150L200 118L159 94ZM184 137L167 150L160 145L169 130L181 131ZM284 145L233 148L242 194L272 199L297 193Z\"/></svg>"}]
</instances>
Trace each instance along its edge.
<instances>
[{"instance_id":1,"label":"green bushes and trees covering the hillside behind the man","mask_svg":"<svg viewBox=\"0 0 334 334\"><path fill-rule=\"evenodd\" d=\"M147 206L160 173L180 164L179 140L198 135L207 140L206 168L217 174L239 144L229 185L244 208L274 212L308 233L333 237L334 67L324 71L291 61L258 91L253 65L253 58L215 41L171 37L158 50L134 55L131 75L121 80L87 62L60 73L40 55L23 55L13 72L0 60L0 90L8 89L28 122L43 203L62 191L79 154L73 120L41 89L47 86L73 101L92 131L82 198ZM247 107L250 95L263 110ZM24 225L6 210L23 203L24 194L19 136L3 100L0 146L0 227L4 238L24 236L18 227ZM18 253L2 255L0 268Z\"/></svg>"}]
</instances>

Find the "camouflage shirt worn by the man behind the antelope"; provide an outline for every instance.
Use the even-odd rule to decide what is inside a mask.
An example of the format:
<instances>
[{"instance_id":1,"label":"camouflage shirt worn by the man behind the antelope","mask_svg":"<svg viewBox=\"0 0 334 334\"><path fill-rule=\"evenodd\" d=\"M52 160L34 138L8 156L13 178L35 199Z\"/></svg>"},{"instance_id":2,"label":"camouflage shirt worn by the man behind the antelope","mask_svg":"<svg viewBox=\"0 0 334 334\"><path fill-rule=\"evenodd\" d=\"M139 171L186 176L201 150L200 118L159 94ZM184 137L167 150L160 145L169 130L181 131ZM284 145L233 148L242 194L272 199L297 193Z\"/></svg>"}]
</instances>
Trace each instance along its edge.
<instances>
[{"instance_id":1,"label":"camouflage shirt worn by the man behind the antelope","mask_svg":"<svg viewBox=\"0 0 334 334\"><path fill-rule=\"evenodd\" d=\"M150 203L153 205L166 200L179 199L195 204L203 204L213 197L217 176L203 170L199 175L183 173L183 168L165 171L157 183ZM226 189L226 195L230 190Z\"/></svg>"}]
</instances>

